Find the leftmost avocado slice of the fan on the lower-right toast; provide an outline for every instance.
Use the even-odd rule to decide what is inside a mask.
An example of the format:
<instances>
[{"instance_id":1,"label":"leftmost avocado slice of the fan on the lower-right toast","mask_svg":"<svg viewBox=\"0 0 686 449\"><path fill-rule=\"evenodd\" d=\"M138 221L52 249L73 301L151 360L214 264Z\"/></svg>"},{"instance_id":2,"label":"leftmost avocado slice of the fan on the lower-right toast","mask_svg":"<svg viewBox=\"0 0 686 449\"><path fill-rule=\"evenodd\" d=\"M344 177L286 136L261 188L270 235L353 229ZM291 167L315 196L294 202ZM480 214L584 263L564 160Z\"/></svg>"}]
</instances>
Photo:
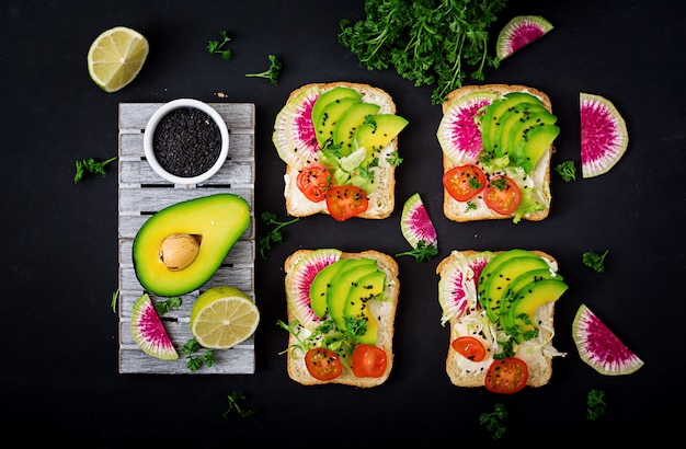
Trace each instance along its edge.
<instances>
[{"instance_id":1,"label":"leftmost avocado slice of the fan on the lower-right toast","mask_svg":"<svg viewBox=\"0 0 686 449\"><path fill-rule=\"evenodd\" d=\"M547 267L546 261L535 254L512 257L498 265L491 273L483 292L485 313L491 322L495 323L500 319L503 295L512 280L526 272Z\"/></svg>"}]
</instances>

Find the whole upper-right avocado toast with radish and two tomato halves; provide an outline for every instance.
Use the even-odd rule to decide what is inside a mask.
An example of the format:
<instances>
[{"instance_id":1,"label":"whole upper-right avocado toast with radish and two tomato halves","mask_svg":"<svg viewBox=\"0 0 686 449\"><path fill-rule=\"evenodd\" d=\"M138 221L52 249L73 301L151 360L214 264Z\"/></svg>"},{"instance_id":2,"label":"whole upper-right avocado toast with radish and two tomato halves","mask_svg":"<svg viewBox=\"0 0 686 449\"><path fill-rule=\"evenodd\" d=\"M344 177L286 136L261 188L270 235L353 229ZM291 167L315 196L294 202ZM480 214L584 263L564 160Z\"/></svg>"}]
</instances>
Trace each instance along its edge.
<instances>
[{"instance_id":1,"label":"whole upper-right avocado toast with radish and two tomato halves","mask_svg":"<svg viewBox=\"0 0 686 449\"><path fill-rule=\"evenodd\" d=\"M525 85L467 85L442 105L443 210L453 221L539 221L550 211L560 133L550 99Z\"/></svg>"}]
</instances>

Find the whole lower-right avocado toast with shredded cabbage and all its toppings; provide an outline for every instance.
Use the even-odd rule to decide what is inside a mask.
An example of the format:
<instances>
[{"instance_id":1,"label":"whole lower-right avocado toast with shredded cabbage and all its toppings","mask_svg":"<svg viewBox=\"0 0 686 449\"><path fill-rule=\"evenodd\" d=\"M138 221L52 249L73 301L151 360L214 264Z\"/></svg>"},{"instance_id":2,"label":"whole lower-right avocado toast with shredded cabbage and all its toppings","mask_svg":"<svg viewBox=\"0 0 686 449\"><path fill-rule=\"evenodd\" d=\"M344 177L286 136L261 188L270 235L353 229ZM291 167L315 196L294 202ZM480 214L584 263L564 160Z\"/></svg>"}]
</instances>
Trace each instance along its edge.
<instances>
[{"instance_id":1,"label":"whole lower-right avocado toast with shredded cabbage and all its toppings","mask_svg":"<svg viewBox=\"0 0 686 449\"><path fill-rule=\"evenodd\" d=\"M436 267L441 323L449 323L446 372L458 387L515 393L552 375L556 301L568 286L537 250L453 251Z\"/></svg>"}]
</instances>

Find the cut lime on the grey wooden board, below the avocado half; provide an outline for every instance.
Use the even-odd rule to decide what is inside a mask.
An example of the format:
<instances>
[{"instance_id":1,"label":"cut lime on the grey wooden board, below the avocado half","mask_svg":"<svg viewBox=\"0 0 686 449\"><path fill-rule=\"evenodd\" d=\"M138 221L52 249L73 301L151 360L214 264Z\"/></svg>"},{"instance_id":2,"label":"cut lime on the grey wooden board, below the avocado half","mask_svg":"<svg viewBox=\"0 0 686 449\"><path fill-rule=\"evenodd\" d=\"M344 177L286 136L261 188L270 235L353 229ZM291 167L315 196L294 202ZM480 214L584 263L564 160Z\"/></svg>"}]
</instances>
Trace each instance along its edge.
<instances>
[{"instance_id":1,"label":"cut lime on the grey wooden board, below the avocado half","mask_svg":"<svg viewBox=\"0 0 686 449\"><path fill-rule=\"evenodd\" d=\"M255 303L235 287L203 292L191 311L191 332L201 346L228 349L250 337L260 323Z\"/></svg>"}]
</instances>

